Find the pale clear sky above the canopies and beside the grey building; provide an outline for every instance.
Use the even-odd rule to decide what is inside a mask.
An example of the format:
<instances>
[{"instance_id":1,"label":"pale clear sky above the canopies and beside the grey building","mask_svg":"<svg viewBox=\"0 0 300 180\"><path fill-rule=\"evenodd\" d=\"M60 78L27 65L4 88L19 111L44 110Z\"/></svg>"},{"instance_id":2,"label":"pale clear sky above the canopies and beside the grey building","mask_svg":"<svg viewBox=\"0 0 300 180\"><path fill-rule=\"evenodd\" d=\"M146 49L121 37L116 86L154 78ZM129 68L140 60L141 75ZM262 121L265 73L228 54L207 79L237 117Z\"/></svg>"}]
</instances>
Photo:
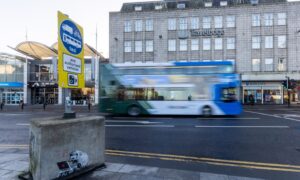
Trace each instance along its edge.
<instances>
[{"instance_id":1,"label":"pale clear sky above the canopies and beside the grey building","mask_svg":"<svg viewBox=\"0 0 300 180\"><path fill-rule=\"evenodd\" d=\"M57 41L57 11L68 14L84 29L85 43L109 58L109 12L120 11L125 2L150 0L0 0L0 52L18 54L26 40L51 46ZM298 0L290 0L298 1Z\"/></svg>"}]
</instances>

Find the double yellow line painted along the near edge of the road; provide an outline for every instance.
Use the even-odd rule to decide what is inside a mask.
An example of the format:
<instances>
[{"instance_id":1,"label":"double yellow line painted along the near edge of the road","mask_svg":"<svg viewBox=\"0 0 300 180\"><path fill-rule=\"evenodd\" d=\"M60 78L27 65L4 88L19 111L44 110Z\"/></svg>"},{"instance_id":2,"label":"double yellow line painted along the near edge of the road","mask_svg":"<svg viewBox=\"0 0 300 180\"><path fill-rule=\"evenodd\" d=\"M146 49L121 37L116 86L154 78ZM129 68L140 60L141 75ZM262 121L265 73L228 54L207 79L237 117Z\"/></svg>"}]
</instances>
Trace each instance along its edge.
<instances>
[{"instance_id":1,"label":"double yellow line painted along the near edge of the road","mask_svg":"<svg viewBox=\"0 0 300 180\"><path fill-rule=\"evenodd\" d=\"M28 149L28 145L0 144L0 149L12 149L12 148L16 148L16 149L26 149L27 148ZM289 165L289 164L224 160L224 159L205 158L205 157L193 157L193 156L147 153L147 152L134 152L134 151L121 151L121 150L111 150L111 149L107 149L105 151L105 154L109 155L109 156L123 156L123 157L134 157L134 158L144 158L144 159L159 159L159 160L163 160L163 161L177 161L177 162L196 162L196 163L205 163L205 164L218 165L218 166L230 166L230 167L249 168L249 169L300 173L300 166Z\"/></svg>"}]
</instances>

